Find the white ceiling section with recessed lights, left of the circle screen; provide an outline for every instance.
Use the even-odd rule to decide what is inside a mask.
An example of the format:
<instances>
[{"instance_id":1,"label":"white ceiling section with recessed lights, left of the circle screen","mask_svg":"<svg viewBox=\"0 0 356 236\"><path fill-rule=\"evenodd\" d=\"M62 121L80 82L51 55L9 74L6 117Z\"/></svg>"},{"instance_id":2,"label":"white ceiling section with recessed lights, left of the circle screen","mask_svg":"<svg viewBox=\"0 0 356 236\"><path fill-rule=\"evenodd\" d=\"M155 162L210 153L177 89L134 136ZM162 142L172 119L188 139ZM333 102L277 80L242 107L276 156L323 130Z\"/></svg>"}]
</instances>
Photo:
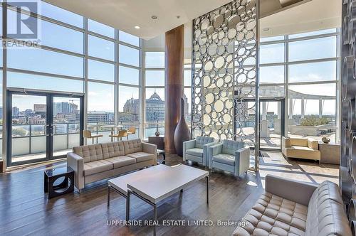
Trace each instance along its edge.
<instances>
[{"instance_id":1,"label":"white ceiling section with recessed lights, left of the circle screen","mask_svg":"<svg viewBox=\"0 0 356 236\"><path fill-rule=\"evenodd\" d=\"M192 21L231 0L45 1L135 36L150 39ZM157 16L157 20L153 20L151 16ZM140 29L136 29L135 26L140 26Z\"/></svg>"}]
</instances>

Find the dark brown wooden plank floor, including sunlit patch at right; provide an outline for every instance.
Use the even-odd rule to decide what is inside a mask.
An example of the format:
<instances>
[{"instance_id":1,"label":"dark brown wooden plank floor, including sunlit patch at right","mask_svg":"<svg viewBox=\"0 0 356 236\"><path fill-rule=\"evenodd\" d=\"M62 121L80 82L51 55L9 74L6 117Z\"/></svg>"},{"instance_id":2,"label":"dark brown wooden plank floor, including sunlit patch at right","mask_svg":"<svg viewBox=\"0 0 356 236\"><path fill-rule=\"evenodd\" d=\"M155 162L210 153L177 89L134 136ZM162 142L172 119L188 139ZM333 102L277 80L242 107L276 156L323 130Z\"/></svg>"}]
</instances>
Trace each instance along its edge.
<instances>
[{"instance_id":1,"label":"dark brown wooden plank floor, including sunlit patch at right","mask_svg":"<svg viewBox=\"0 0 356 236\"><path fill-rule=\"evenodd\" d=\"M181 163L179 156L167 156L167 164ZM321 183L337 183L338 166L313 161L286 161L280 153L263 152L258 173L237 180L221 172L211 173L210 202L206 205L205 181L190 186L162 201L158 220L239 221L263 193L264 177L277 176ZM0 174L0 235L152 235L152 227L107 225L108 220L125 220L125 198L113 193L107 207L106 181L90 184L83 193L47 199L43 193L43 170L60 162ZM151 220L152 207L132 198L131 220ZM157 235L231 235L235 227L157 227Z\"/></svg>"}]
</instances>

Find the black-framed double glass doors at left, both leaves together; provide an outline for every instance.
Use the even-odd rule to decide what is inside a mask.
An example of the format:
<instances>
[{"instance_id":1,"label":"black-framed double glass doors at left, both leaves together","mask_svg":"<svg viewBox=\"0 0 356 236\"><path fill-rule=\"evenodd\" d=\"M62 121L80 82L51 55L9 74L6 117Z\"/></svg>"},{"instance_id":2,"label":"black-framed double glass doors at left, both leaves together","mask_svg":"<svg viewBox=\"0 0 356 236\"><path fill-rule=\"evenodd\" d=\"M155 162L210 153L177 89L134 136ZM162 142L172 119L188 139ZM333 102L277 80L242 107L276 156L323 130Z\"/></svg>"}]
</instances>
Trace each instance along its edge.
<instances>
[{"instance_id":1,"label":"black-framed double glass doors at left, both leaves together","mask_svg":"<svg viewBox=\"0 0 356 236\"><path fill-rule=\"evenodd\" d=\"M66 157L83 144L83 97L7 93L9 166Z\"/></svg>"}]
</instances>

